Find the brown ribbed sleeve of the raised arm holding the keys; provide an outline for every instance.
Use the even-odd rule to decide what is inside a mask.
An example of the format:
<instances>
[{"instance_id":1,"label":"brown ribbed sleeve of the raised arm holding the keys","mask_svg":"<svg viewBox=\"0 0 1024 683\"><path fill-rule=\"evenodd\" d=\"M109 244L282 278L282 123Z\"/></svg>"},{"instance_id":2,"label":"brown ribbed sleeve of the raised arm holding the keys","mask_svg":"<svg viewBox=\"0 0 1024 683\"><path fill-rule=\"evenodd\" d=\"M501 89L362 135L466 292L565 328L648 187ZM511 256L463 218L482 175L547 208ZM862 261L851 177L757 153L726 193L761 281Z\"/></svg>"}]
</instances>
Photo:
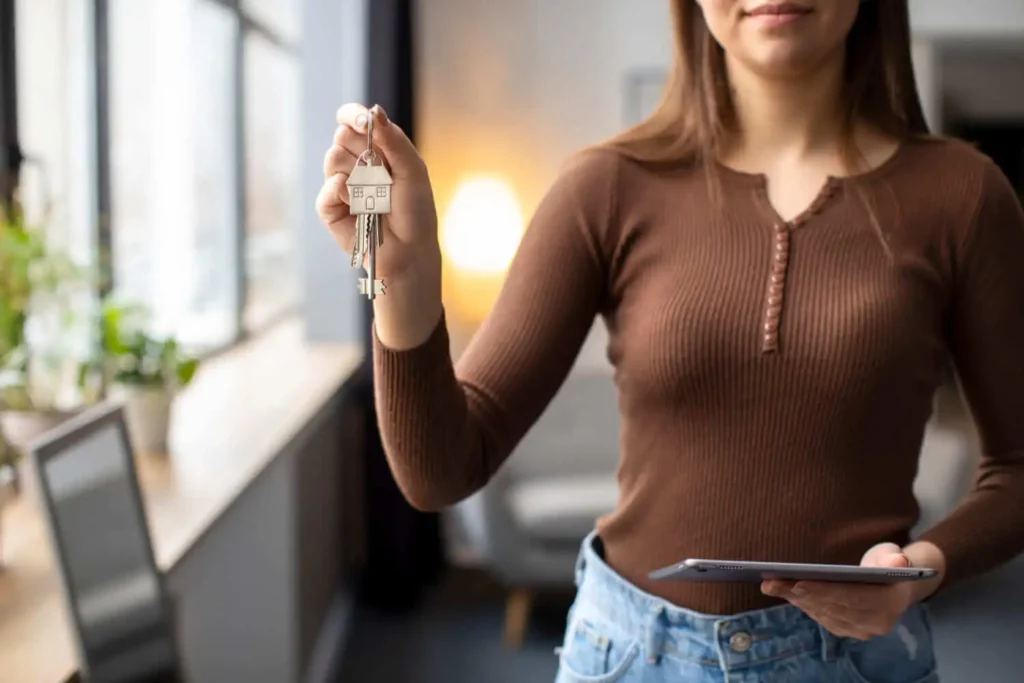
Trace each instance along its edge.
<instances>
[{"instance_id":1,"label":"brown ribbed sleeve of the raised arm holding the keys","mask_svg":"<svg viewBox=\"0 0 1024 683\"><path fill-rule=\"evenodd\" d=\"M482 487L571 369L607 291L609 162L581 155L549 190L458 368L444 321L408 351L374 335L384 450L414 506L445 507Z\"/></svg>"}]
</instances>

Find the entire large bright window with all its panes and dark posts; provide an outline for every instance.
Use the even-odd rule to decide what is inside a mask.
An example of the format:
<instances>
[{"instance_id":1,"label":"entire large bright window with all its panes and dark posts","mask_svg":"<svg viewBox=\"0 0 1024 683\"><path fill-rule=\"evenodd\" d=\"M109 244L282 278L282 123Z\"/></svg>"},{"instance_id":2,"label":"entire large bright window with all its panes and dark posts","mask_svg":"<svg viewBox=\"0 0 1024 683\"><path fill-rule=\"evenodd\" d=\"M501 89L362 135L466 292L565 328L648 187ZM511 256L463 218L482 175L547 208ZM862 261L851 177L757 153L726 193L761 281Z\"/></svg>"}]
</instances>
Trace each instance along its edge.
<instances>
[{"instance_id":1,"label":"entire large bright window with all its panes and dark posts","mask_svg":"<svg viewBox=\"0 0 1024 683\"><path fill-rule=\"evenodd\" d=\"M299 2L104 3L16 1L20 196L153 332L221 348L299 303Z\"/></svg>"}]
</instances>

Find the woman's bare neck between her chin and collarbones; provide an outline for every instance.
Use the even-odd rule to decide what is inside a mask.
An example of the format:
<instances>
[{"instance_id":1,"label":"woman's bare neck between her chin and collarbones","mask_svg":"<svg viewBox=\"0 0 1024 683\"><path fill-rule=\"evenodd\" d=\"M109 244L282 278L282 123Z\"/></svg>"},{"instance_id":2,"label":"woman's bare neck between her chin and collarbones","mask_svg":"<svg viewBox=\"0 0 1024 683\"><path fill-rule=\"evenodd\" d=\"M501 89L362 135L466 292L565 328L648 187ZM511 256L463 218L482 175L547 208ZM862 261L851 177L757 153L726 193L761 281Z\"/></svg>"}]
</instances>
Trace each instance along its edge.
<instances>
[{"instance_id":1,"label":"woman's bare neck between her chin and collarbones","mask_svg":"<svg viewBox=\"0 0 1024 683\"><path fill-rule=\"evenodd\" d=\"M835 154L842 134L843 53L801 78L766 79L728 60L737 131L728 156Z\"/></svg>"}]
</instances>

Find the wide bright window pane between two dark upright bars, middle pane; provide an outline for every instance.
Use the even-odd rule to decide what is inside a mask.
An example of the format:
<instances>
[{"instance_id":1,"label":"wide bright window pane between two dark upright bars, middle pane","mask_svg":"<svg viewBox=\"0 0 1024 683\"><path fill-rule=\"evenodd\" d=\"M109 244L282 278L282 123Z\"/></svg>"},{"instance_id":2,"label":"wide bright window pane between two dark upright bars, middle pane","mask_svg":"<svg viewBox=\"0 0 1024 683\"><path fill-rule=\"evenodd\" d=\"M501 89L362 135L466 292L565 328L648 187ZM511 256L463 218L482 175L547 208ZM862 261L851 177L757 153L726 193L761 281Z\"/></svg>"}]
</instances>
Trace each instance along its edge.
<instances>
[{"instance_id":1,"label":"wide bright window pane between two dark upright bars, middle pane","mask_svg":"<svg viewBox=\"0 0 1024 683\"><path fill-rule=\"evenodd\" d=\"M238 328L238 22L209 0L113 0L115 293L211 348Z\"/></svg>"}]
</instances>

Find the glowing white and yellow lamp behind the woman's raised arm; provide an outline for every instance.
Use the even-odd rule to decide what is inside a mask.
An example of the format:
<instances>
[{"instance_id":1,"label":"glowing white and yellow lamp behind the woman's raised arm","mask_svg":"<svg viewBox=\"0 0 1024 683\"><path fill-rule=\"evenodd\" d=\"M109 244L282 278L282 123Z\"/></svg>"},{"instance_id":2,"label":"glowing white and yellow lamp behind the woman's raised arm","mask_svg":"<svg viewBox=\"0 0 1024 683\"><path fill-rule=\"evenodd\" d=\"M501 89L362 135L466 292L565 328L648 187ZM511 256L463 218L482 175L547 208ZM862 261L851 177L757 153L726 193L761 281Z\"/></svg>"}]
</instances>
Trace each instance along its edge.
<instances>
[{"instance_id":1,"label":"glowing white and yellow lamp behind the woman's raised arm","mask_svg":"<svg viewBox=\"0 0 1024 683\"><path fill-rule=\"evenodd\" d=\"M479 323L490 309L522 231L522 210L508 183L477 177L456 188L440 242L445 298L465 322Z\"/></svg>"}]
</instances>

